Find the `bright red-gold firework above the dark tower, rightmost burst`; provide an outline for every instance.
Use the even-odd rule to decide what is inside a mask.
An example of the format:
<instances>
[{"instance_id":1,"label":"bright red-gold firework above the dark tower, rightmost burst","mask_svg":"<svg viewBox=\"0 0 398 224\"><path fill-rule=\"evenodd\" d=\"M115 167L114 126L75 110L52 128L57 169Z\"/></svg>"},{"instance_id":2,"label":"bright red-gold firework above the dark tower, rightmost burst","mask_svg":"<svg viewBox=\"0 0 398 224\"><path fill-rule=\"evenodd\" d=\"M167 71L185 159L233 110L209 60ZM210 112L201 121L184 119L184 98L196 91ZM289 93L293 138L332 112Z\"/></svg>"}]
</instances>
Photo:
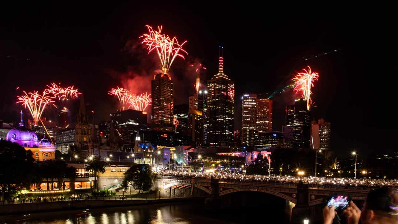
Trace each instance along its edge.
<instances>
[{"instance_id":1,"label":"bright red-gold firework above the dark tower, rightmost burst","mask_svg":"<svg viewBox=\"0 0 398 224\"><path fill-rule=\"evenodd\" d=\"M314 102L311 99L311 87L314 86L314 81L318 81L319 74L316 72L312 72L311 68L307 65L308 71L306 69L304 72L297 73L297 75L292 79L295 82L296 94L301 92L302 98L307 100L307 110L310 110L311 105L314 105Z\"/></svg>"}]
</instances>

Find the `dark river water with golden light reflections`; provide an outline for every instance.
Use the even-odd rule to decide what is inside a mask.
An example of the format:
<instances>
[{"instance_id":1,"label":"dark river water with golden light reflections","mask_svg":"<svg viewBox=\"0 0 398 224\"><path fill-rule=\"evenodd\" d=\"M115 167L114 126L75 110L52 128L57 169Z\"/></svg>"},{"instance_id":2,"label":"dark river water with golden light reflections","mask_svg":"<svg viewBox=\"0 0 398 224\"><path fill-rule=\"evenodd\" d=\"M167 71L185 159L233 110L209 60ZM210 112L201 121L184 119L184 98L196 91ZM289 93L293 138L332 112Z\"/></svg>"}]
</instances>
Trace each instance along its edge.
<instances>
[{"instance_id":1,"label":"dark river water with golden light reflections","mask_svg":"<svg viewBox=\"0 0 398 224\"><path fill-rule=\"evenodd\" d=\"M270 204L271 205L271 204ZM224 223L289 223L289 210L275 206L253 208L205 208L203 201L172 204L152 204L115 208L90 209L86 216L82 210L42 212L1 216L1 223L26 224L224 224ZM22 220L27 219L27 220ZM260 222L259 222L260 221Z\"/></svg>"}]
</instances>

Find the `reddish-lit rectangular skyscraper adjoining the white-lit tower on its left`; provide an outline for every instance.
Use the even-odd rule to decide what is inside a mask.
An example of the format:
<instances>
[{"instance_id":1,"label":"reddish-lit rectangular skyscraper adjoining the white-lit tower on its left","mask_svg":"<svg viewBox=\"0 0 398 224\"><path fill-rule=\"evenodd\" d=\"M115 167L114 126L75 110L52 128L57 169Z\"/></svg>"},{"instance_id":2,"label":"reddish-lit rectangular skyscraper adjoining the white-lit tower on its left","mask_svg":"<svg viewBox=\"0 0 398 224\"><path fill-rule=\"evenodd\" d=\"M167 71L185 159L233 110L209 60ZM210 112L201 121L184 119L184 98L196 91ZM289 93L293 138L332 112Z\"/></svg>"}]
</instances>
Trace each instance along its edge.
<instances>
[{"instance_id":1,"label":"reddish-lit rectangular skyscraper adjoining the white-lit tower on its left","mask_svg":"<svg viewBox=\"0 0 398 224\"><path fill-rule=\"evenodd\" d=\"M272 100L257 98L257 131L272 132Z\"/></svg>"}]
</instances>

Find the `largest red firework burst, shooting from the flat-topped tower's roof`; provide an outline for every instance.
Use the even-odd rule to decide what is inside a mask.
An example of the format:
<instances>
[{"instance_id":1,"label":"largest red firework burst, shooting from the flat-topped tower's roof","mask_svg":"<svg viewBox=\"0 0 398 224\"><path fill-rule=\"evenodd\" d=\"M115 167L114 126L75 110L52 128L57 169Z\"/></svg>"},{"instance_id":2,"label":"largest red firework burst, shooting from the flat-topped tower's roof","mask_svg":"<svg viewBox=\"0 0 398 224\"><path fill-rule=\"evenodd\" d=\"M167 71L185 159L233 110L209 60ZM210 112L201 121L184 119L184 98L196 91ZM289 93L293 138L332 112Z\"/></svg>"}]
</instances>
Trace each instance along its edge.
<instances>
[{"instance_id":1,"label":"largest red firework burst, shooting from the flat-topped tower's roof","mask_svg":"<svg viewBox=\"0 0 398 224\"><path fill-rule=\"evenodd\" d=\"M142 44L145 44L148 49L148 54L156 50L160 59L160 69L163 73L167 73L176 57L185 59L182 53L188 54L182 45L178 43L177 37L170 38L168 35L160 34L162 32L162 26L158 26L158 31L152 29L151 26L146 25L148 33L143 34L140 38L143 38Z\"/></svg>"}]
</instances>

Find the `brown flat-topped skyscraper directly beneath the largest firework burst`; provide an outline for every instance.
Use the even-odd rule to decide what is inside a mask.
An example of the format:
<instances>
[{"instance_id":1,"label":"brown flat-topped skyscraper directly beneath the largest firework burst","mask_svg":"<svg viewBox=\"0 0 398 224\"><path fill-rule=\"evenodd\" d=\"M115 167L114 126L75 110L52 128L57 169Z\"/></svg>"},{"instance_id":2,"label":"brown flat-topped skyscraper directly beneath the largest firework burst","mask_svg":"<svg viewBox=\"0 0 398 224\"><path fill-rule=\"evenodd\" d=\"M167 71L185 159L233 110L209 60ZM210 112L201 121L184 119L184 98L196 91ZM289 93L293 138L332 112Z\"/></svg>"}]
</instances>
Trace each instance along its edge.
<instances>
[{"instance_id":1,"label":"brown flat-topped skyscraper directly beneath the largest firework burst","mask_svg":"<svg viewBox=\"0 0 398 224\"><path fill-rule=\"evenodd\" d=\"M157 131L173 131L173 81L159 73L152 80L152 125Z\"/></svg>"}]
</instances>

